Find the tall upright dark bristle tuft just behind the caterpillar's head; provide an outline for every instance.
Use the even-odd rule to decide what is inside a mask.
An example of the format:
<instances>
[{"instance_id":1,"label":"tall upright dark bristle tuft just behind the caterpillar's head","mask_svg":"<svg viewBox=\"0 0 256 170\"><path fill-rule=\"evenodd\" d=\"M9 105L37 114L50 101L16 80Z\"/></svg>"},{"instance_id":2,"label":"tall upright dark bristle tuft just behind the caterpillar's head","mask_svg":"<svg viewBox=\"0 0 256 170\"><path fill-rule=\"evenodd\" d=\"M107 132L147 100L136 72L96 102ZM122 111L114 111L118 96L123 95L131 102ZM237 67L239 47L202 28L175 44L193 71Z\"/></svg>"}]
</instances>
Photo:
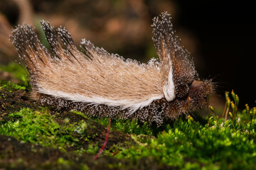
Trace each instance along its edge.
<instances>
[{"instance_id":1,"label":"tall upright dark bristle tuft just behind the caterpillar's head","mask_svg":"<svg viewBox=\"0 0 256 170\"><path fill-rule=\"evenodd\" d=\"M187 50L180 45L175 35L171 15L162 13L160 18L153 19L153 40L161 64L161 78L168 84L168 70L172 67L174 77L175 96L183 97L188 93L188 85L196 79L197 73ZM171 61L170 61L171 60ZM170 65L171 63L171 65Z\"/></svg>"}]
</instances>

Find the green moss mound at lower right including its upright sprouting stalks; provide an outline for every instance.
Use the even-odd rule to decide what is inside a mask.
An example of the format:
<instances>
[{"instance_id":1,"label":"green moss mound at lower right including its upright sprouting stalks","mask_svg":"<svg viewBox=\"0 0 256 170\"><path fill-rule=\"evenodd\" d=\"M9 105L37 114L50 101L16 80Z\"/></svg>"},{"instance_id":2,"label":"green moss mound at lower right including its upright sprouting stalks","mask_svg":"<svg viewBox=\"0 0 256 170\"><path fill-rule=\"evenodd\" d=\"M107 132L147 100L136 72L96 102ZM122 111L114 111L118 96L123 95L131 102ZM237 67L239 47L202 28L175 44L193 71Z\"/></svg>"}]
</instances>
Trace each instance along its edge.
<instances>
[{"instance_id":1,"label":"green moss mound at lower right including its upright sprouting stalks","mask_svg":"<svg viewBox=\"0 0 256 170\"><path fill-rule=\"evenodd\" d=\"M228 93L226 93L227 95ZM159 164L180 169L253 169L256 165L256 108L238 111L238 96L231 92L234 101L227 97L224 113L230 120L208 115L208 123L193 119L177 120L166 126L156 138L136 141L138 145L121 149L116 155L137 162L139 159L156 159ZM231 106L229 110L229 106Z\"/></svg>"}]
</instances>

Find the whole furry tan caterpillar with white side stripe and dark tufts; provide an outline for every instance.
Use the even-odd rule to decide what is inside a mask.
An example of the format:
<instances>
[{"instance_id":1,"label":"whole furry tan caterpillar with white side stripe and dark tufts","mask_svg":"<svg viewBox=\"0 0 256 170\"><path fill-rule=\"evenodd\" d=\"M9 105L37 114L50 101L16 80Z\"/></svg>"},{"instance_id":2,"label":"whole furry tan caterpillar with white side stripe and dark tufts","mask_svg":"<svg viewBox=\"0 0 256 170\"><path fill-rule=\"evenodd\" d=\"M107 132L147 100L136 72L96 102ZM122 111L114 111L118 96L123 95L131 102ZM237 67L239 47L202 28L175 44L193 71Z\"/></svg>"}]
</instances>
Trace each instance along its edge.
<instances>
[{"instance_id":1,"label":"whole furry tan caterpillar with white side stripe and dark tufts","mask_svg":"<svg viewBox=\"0 0 256 170\"><path fill-rule=\"evenodd\" d=\"M124 60L85 39L80 52L65 28L55 30L46 21L41 24L53 52L26 24L17 26L10 40L31 76L34 100L87 115L135 118L159 126L206 107L213 88L210 80L198 79L189 53L174 35L170 14L161 13L153 21L160 62L151 59L147 64Z\"/></svg>"}]
</instances>

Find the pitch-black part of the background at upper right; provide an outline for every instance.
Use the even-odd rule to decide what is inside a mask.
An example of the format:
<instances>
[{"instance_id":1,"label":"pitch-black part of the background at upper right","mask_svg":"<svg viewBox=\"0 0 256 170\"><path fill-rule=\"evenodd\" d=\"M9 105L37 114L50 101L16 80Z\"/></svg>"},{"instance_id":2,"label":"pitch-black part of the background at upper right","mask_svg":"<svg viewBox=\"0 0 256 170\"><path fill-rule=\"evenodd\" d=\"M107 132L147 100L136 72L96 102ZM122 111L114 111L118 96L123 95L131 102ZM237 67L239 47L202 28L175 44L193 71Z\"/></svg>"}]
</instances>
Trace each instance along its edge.
<instances>
[{"instance_id":1,"label":"pitch-black part of the background at upper right","mask_svg":"<svg viewBox=\"0 0 256 170\"><path fill-rule=\"evenodd\" d=\"M218 92L234 89L255 106L255 8L247 1L177 1L179 23L191 30L204 60L200 75L215 77ZM241 106L240 107L243 107Z\"/></svg>"}]
</instances>

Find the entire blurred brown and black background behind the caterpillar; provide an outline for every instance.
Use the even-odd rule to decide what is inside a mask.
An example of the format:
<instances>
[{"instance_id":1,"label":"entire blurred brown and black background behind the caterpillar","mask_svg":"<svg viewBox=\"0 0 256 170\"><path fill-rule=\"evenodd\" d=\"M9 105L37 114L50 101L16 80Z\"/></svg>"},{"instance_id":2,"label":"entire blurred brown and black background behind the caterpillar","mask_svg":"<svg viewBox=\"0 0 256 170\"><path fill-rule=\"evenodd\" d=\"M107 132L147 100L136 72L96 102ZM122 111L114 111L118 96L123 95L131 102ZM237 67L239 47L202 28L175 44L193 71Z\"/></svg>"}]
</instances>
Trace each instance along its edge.
<instances>
[{"instance_id":1,"label":"entire blurred brown and black background behind the caterpillar","mask_svg":"<svg viewBox=\"0 0 256 170\"><path fill-rule=\"evenodd\" d=\"M124 58L147 62L156 57L151 23L163 11L171 13L181 44L191 52L201 79L213 79L215 104L224 106L224 92L234 89L255 106L255 8L242 1L183 0L0 0L0 64L17 60L9 42L11 29L28 23L43 44L40 20L65 26L76 45L82 38ZM0 79L11 75L0 71Z\"/></svg>"}]
</instances>

